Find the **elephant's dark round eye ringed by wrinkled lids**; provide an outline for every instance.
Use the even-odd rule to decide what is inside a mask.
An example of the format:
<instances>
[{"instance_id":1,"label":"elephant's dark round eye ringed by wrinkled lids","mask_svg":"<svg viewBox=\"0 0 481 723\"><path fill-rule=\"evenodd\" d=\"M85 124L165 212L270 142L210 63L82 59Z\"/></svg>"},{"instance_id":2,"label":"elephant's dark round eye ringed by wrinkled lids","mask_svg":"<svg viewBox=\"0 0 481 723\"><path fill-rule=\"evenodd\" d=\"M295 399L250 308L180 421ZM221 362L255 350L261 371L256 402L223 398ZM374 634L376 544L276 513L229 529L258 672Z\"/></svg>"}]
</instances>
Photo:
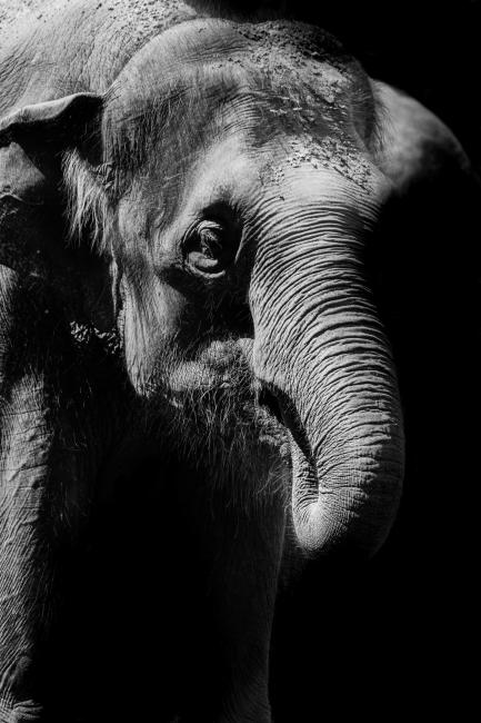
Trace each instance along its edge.
<instances>
[{"instance_id":1,"label":"elephant's dark round eye ringed by wrinkled lids","mask_svg":"<svg viewBox=\"0 0 481 723\"><path fill-rule=\"evenodd\" d=\"M183 248L189 268L198 274L220 276L232 260L224 227L203 220L189 230Z\"/></svg>"}]
</instances>

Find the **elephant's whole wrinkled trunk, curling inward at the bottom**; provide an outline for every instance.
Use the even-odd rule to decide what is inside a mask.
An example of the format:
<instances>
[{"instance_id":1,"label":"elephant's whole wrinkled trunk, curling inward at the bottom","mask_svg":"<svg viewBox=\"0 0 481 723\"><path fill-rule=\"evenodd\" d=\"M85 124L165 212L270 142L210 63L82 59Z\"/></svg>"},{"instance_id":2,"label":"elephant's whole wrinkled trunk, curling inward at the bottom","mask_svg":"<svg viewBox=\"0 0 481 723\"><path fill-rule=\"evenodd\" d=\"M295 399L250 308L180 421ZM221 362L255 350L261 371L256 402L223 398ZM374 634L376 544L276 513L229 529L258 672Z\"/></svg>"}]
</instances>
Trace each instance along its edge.
<instances>
[{"instance_id":1,"label":"elephant's whole wrinkled trunk, curling inward at the bottom","mask_svg":"<svg viewBox=\"0 0 481 723\"><path fill-rule=\"evenodd\" d=\"M401 409L363 277L364 211L287 202L251 285L254 370L290 430L293 524L308 554L374 553L401 493Z\"/></svg>"}]
</instances>

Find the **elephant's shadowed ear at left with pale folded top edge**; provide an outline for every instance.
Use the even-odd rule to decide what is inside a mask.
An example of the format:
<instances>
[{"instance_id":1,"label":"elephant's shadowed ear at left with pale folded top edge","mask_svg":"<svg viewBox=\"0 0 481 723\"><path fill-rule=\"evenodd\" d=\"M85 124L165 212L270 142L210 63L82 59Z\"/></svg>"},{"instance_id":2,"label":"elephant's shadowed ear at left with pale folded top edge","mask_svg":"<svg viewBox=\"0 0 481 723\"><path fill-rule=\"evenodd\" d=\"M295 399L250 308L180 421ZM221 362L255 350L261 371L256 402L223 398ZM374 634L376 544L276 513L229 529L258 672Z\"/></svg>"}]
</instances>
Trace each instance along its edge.
<instances>
[{"instance_id":1,"label":"elephant's shadowed ear at left with pale folded top edge","mask_svg":"<svg viewBox=\"0 0 481 723\"><path fill-rule=\"evenodd\" d=\"M0 264L70 295L77 277L87 305L104 269L87 245L67 242L62 159L77 150L100 162L101 112L100 96L77 93L0 119Z\"/></svg>"}]
</instances>

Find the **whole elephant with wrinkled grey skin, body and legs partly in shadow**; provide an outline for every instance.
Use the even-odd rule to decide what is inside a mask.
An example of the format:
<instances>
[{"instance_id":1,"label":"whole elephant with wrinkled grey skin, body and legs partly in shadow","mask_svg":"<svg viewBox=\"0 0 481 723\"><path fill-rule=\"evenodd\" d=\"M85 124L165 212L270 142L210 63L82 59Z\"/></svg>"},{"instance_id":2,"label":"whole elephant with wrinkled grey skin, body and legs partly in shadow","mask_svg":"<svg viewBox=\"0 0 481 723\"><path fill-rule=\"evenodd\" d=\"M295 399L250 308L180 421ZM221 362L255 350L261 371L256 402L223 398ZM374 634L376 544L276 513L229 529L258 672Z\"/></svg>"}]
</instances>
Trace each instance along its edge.
<instances>
[{"instance_id":1,"label":"whole elephant with wrinkled grey skin, body and legs partly in shadow","mask_svg":"<svg viewBox=\"0 0 481 723\"><path fill-rule=\"evenodd\" d=\"M308 556L371 555L400 499L367 239L427 139L464 159L317 29L59 7L0 56L0 721L43 720L58 551L143 448L194 460L218 501L229 673L197 720L270 721L285 524Z\"/></svg>"}]
</instances>

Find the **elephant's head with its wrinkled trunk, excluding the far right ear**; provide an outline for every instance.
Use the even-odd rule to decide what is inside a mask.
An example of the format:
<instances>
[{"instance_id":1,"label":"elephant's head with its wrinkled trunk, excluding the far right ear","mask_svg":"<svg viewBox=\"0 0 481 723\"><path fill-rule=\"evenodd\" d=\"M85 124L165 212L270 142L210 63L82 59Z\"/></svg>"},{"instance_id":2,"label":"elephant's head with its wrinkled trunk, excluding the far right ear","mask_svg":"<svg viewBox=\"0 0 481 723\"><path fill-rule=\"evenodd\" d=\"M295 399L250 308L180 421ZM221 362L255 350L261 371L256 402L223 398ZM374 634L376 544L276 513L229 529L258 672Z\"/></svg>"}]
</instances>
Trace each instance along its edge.
<instances>
[{"instance_id":1,"label":"elephant's head with its wrinkled trunk, excluding the far right ear","mask_svg":"<svg viewBox=\"0 0 481 723\"><path fill-rule=\"evenodd\" d=\"M317 29L194 20L103 97L0 131L61 179L71 232L109 263L131 383L177 409L186 446L206 445L192 410L244 456L272 419L287 429L308 554L374 552L400 498L397 377L364 268L389 192L379 112Z\"/></svg>"}]
</instances>

